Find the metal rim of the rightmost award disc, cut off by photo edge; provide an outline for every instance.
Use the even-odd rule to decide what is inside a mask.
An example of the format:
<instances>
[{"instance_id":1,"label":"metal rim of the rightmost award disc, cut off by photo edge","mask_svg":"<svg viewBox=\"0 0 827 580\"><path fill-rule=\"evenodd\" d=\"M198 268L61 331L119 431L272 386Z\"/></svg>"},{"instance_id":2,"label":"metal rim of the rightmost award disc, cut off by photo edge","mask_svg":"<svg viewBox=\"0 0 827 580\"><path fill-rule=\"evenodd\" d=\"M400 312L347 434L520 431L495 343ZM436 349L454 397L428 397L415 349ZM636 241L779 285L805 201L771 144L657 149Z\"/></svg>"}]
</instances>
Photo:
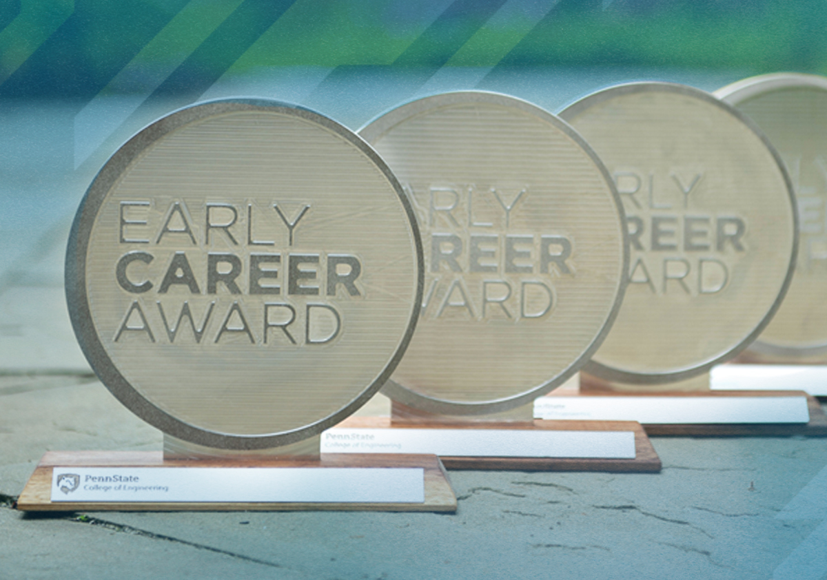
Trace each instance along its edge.
<instances>
[{"instance_id":1,"label":"metal rim of the rightmost award disc, cut off by photo edge","mask_svg":"<svg viewBox=\"0 0 827 580\"><path fill-rule=\"evenodd\" d=\"M759 74L730 83L712 94L729 105L738 107L740 103L753 97L760 97L785 88L815 88L824 91L827 95L827 78L804 73ZM827 342L816 346L782 346L773 345L758 336L753 344L748 345L748 350L758 354L791 358L820 356L827 354Z\"/></svg>"}]
</instances>

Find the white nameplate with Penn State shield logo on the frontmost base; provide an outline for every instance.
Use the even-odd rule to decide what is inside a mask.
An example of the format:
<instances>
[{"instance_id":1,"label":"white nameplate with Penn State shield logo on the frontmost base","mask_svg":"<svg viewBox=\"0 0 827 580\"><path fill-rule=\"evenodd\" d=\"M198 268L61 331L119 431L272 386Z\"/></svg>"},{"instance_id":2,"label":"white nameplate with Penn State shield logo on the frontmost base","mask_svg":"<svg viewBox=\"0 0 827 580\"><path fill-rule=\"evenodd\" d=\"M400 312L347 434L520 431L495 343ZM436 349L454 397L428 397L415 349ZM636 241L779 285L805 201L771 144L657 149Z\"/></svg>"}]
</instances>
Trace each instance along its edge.
<instances>
[{"instance_id":1,"label":"white nameplate with Penn State shield logo on the frontmost base","mask_svg":"<svg viewBox=\"0 0 827 580\"><path fill-rule=\"evenodd\" d=\"M52 502L423 503L423 468L52 470Z\"/></svg>"}]
</instances>

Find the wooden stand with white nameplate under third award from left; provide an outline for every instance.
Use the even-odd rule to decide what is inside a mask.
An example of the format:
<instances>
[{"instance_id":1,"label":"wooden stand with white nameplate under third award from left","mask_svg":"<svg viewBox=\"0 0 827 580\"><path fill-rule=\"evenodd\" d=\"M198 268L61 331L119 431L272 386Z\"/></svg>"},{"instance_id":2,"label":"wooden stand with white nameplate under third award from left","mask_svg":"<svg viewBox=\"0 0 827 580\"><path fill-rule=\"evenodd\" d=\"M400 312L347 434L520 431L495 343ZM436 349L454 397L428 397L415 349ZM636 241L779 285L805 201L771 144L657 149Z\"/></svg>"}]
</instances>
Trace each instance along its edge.
<instances>
[{"instance_id":1,"label":"wooden stand with white nameplate under third award from left","mask_svg":"<svg viewBox=\"0 0 827 580\"><path fill-rule=\"evenodd\" d=\"M641 387L581 373L576 392L538 400L538 416L554 416L550 401L596 421L637 420L648 435L827 435L827 416L801 391L711 391L709 375Z\"/></svg>"}]
</instances>

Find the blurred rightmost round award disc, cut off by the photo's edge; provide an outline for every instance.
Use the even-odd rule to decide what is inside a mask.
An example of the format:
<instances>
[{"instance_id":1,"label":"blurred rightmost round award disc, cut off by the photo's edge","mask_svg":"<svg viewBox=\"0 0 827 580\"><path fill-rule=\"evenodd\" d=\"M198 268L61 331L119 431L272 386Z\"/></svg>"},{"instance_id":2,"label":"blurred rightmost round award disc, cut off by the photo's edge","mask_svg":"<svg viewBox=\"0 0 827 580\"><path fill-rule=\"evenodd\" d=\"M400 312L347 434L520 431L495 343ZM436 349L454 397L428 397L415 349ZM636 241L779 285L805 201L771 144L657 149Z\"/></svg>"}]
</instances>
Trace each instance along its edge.
<instances>
[{"instance_id":1,"label":"blurred rightmost round award disc, cut off by the photo's edge","mask_svg":"<svg viewBox=\"0 0 827 580\"><path fill-rule=\"evenodd\" d=\"M766 74L715 92L755 121L786 163L799 210L799 254L789 291L749 349L827 359L827 78Z\"/></svg>"}]
</instances>

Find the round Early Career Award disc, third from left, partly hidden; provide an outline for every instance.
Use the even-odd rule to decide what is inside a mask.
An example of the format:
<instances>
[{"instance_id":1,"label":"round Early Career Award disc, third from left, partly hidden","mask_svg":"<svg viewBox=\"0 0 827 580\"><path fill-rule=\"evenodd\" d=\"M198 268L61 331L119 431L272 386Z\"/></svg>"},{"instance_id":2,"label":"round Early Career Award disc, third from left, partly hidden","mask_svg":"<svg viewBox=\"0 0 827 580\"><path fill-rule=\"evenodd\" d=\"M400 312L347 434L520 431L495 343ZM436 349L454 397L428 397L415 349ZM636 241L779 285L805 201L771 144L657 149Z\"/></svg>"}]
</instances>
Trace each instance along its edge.
<instances>
[{"instance_id":1,"label":"round Early Career Award disc, third from left, partly hidden","mask_svg":"<svg viewBox=\"0 0 827 580\"><path fill-rule=\"evenodd\" d=\"M629 288L587 366L624 383L704 373L761 332L789 286L796 214L772 145L695 88L632 83L561 113L595 148L629 224Z\"/></svg>"}]
</instances>

